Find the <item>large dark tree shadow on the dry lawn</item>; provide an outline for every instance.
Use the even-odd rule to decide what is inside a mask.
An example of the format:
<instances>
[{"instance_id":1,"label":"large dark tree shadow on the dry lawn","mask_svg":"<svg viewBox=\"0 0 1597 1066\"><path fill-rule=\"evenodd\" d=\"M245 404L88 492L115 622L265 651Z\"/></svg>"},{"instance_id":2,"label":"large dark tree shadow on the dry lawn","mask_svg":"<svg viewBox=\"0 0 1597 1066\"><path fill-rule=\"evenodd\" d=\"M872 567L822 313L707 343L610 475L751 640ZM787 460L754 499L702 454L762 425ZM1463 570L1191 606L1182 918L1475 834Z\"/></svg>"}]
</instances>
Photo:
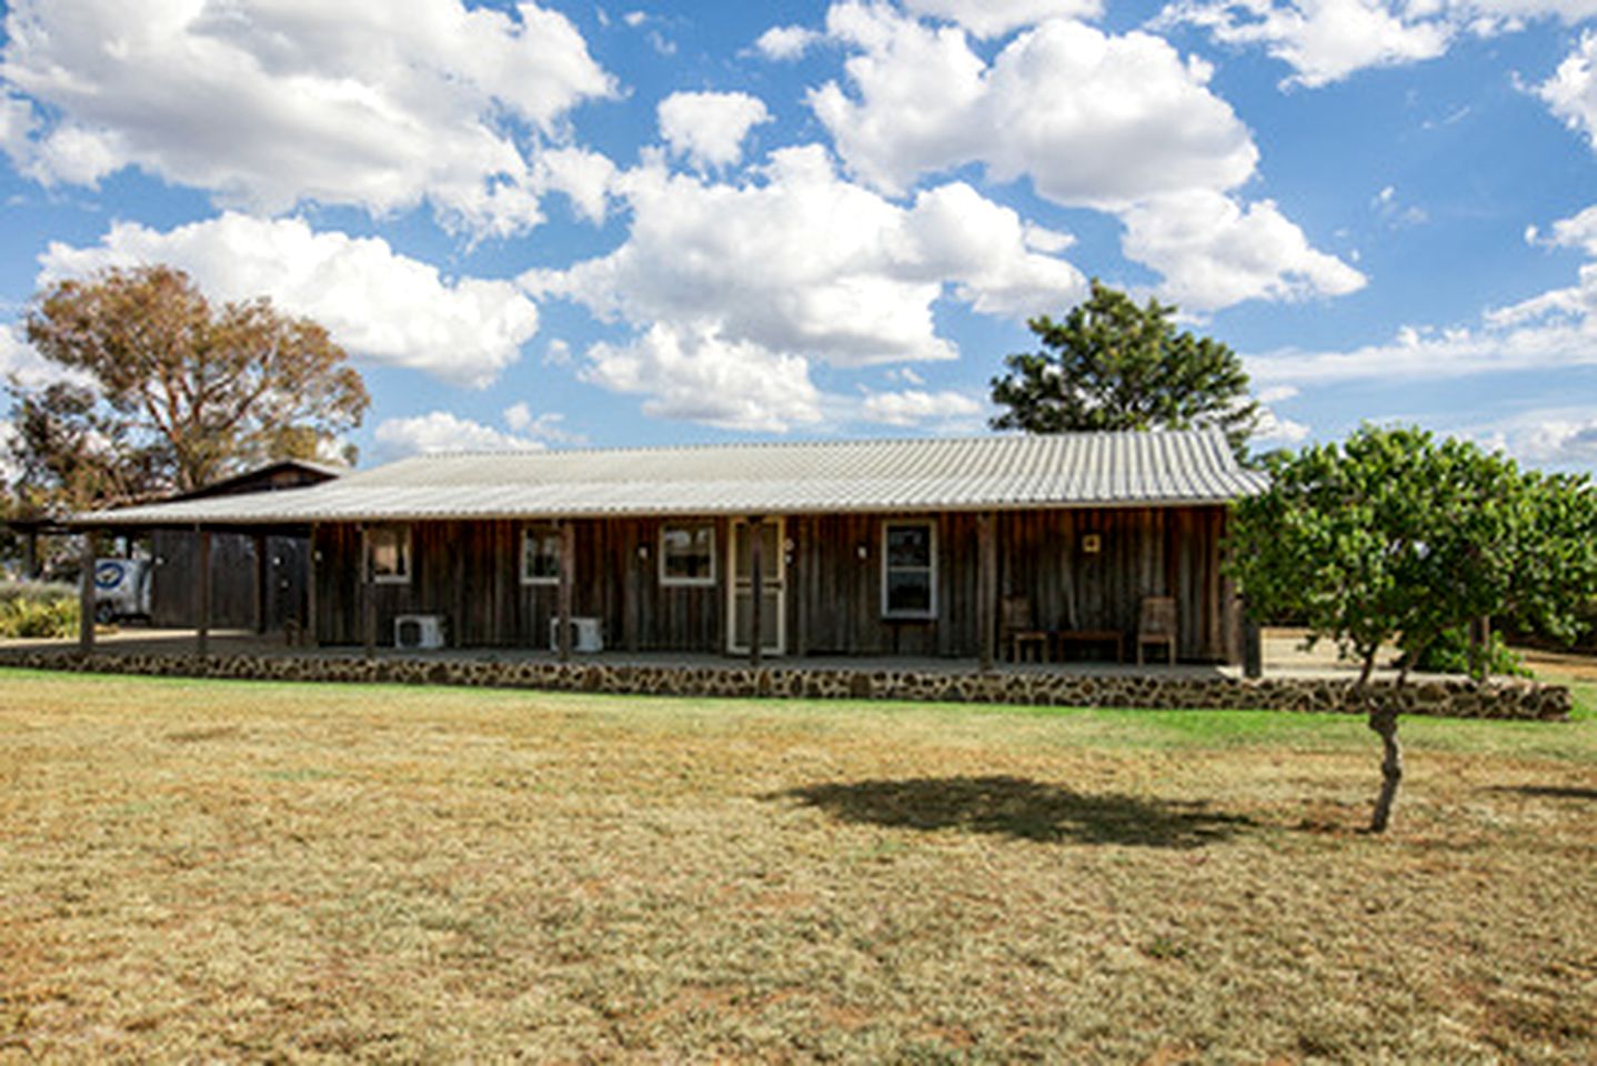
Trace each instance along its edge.
<instances>
[{"instance_id":1,"label":"large dark tree shadow on the dry lawn","mask_svg":"<svg viewBox=\"0 0 1597 1066\"><path fill-rule=\"evenodd\" d=\"M767 798L797 800L843 822L1080 844L1201 847L1254 825L1203 803L1084 795L1025 777L827 782Z\"/></svg>"}]
</instances>

